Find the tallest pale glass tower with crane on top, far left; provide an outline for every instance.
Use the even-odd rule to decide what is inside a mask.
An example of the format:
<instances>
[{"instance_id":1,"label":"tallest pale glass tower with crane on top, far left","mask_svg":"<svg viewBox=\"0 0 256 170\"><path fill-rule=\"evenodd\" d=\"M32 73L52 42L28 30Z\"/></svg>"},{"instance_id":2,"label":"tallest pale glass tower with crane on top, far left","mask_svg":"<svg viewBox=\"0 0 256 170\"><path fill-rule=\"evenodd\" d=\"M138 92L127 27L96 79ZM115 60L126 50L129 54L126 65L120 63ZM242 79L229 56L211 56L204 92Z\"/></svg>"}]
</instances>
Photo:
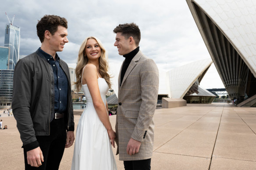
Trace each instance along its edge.
<instances>
[{"instance_id":1,"label":"tallest pale glass tower with crane on top, far left","mask_svg":"<svg viewBox=\"0 0 256 170\"><path fill-rule=\"evenodd\" d=\"M4 46L10 48L9 69L14 69L20 53L20 28L6 24Z\"/></svg>"}]
</instances>

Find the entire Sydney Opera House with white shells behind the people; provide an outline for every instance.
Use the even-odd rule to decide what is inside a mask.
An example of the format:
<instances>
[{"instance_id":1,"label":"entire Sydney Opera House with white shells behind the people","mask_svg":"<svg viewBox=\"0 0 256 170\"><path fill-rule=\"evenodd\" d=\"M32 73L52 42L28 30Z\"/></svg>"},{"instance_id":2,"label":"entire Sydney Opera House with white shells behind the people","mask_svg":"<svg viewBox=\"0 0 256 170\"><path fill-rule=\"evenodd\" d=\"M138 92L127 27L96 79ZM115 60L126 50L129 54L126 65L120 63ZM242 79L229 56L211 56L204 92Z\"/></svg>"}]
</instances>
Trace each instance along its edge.
<instances>
[{"instance_id":1,"label":"entire Sydney Opera House with white shells behind the people","mask_svg":"<svg viewBox=\"0 0 256 170\"><path fill-rule=\"evenodd\" d=\"M203 59L160 72L159 100L185 99L187 103L211 103L215 95L200 87L214 63L225 89L237 106L256 106L256 1L186 0L210 53ZM200 37L199 37L200 38ZM120 67L110 65L113 89L118 96Z\"/></svg>"}]
</instances>

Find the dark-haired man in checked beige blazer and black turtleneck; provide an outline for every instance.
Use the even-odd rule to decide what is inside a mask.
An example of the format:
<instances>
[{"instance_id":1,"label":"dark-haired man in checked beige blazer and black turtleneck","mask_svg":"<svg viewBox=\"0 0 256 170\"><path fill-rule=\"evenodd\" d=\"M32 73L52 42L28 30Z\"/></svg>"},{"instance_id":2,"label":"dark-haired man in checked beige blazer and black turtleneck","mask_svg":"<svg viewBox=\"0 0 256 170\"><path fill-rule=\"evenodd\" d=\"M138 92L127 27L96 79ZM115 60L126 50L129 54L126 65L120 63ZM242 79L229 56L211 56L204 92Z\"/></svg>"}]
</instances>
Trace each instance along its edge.
<instances>
[{"instance_id":1,"label":"dark-haired man in checked beige blazer and black turtleneck","mask_svg":"<svg viewBox=\"0 0 256 170\"><path fill-rule=\"evenodd\" d=\"M153 59L139 50L140 30L136 24L119 24L114 33L114 46L125 58L118 77L117 154L125 170L150 170L158 69Z\"/></svg>"}]
</instances>

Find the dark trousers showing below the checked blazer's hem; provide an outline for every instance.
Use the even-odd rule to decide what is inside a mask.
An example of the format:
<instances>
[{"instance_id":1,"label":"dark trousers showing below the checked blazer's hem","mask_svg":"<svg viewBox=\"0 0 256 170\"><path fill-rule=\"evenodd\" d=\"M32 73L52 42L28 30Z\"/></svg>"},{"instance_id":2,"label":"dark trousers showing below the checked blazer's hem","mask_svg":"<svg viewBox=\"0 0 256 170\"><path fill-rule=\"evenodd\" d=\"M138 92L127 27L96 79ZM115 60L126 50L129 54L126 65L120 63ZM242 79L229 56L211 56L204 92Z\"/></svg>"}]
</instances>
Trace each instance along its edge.
<instances>
[{"instance_id":1,"label":"dark trousers showing below the checked blazer's hem","mask_svg":"<svg viewBox=\"0 0 256 170\"><path fill-rule=\"evenodd\" d=\"M128 160L124 161L125 170L150 170L151 158L148 160Z\"/></svg>"}]
</instances>

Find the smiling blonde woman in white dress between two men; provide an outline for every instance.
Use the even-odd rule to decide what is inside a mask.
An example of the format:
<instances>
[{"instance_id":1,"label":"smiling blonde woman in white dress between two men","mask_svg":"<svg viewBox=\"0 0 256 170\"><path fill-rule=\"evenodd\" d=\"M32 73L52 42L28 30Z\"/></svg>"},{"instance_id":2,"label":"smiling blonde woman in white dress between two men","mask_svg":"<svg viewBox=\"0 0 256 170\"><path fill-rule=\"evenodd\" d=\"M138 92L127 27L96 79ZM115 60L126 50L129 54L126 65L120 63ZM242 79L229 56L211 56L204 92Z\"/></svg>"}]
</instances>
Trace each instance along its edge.
<instances>
[{"instance_id":1,"label":"smiling blonde woman in white dress between two men","mask_svg":"<svg viewBox=\"0 0 256 170\"><path fill-rule=\"evenodd\" d=\"M87 103L77 125L71 170L117 169L111 147L115 132L105 97L111 86L107 69L107 54L100 40L85 38L78 54L75 84L84 91Z\"/></svg>"}]
</instances>

